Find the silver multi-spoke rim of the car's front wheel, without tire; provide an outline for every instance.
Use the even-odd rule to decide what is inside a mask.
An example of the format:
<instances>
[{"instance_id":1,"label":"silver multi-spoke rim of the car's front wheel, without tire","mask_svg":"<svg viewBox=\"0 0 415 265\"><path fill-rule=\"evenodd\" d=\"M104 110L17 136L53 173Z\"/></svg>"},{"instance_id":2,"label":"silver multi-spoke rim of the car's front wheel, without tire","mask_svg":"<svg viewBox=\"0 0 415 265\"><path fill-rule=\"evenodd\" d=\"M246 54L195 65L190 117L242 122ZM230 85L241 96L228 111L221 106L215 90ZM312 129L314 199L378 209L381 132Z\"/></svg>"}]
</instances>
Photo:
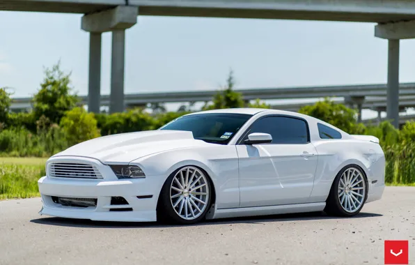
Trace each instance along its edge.
<instances>
[{"instance_id":1,"label":"silver multi-spoke rim of the car's front wheel, without tire","mask_svg":"<svg viewBox=\"0 0 415 265\"><path fill-rule=\"evenodd\" d=\"M180 169L171 181L170 201L181 218L198 218L209 202L209 185L205 174L197 167Z\"/></svg>"}]
</instances>

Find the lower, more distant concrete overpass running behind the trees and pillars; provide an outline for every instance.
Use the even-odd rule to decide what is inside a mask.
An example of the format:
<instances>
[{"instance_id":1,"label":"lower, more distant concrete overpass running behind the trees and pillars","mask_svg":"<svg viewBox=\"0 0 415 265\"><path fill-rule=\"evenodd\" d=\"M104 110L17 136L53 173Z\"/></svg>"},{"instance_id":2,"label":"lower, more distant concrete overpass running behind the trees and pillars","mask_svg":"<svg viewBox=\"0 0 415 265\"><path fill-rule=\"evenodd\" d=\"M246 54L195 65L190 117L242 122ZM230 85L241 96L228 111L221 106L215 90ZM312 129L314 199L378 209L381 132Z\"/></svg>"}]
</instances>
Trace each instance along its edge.
<instances>
[{"instance_id":1,"label":"lower, more distant concrete overpass running behind the trees and pillars","mask_svg":"<svg viewBox=\"0 0 415 265\"><path fill-rule=\"evenodd\" d=\"M242 93L244 100L290 100L290 99L312 99L318 100L324 97L344 98L336 100L345 103L349 107L361 109L373 109L378 115L386 111L386 84L364 84L350 86L309 86L290 88L265 88L265 89L237 89ZM181 103L181 102L208 102L212 100L215 90L209 91L175 91L158 93L136 93L125 95L127 107L142 106L148 103ZM88 96L80 96L81 104L88 104ZM32 98L13 98L11 109L14 111L31 108ZM400 110L407 107L415 107L415 83L400 84ZM110 104L110 97L102 95L100 99L102 106ZM284 109L297 112L301 107L312 103L288 103L274 104L274 109Z\"/></svg>"}]
</instances>

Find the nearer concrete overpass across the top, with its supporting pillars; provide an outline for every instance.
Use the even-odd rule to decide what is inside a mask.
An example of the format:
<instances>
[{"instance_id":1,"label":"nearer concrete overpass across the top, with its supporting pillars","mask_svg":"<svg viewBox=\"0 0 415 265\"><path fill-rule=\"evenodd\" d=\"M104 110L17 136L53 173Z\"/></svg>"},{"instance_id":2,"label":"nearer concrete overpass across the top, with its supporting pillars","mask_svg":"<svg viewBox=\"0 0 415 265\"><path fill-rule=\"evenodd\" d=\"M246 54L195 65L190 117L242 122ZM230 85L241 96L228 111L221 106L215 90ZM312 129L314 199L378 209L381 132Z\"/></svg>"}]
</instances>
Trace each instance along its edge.
<instances>
[{"instance_id":1,"label":"nearer concrete overpass across the top, with its supporting pillars","mask_svg":"<svg viewBox=\"0 0 415 265\"><path fill-rule=\"evenodd\" d=\"M101 36L112 32L110 112L124 109L125 30L137 15L241 17L279 20L375 22L375 36L389 41L387 115L398 127L400 40L415 38L412 0L3 0L0 10L82 13L91 33L88 105L100 107Z\"/></svg>"}]
</instances>

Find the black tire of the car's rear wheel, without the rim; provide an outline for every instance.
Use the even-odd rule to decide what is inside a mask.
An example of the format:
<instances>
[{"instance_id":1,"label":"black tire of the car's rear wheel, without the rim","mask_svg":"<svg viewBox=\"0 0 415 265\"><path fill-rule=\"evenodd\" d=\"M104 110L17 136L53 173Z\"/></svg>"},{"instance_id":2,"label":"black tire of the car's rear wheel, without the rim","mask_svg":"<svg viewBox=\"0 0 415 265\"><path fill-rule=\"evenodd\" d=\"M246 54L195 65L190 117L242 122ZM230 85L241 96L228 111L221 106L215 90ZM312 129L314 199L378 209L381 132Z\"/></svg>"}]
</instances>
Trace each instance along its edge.
<instances>
[{"instance_id":1,"label":"black tire of the car's rear wheel, without the rim","mask_svg":"<svg viewBox=\"0 0 415 265\"><path fill-rule=\"evenodd\" d=\"M353 213L347 212L345 211L345 209L343 209L343 206L340 205L340 199L338 197L338 183L340 182L340 177L347 169L350 169L350 168L358 169L359 172L361 172L363 176L364 182L366 183L365 185L366 190L365 190L365 196L363 198L363 203L361 204L359 209L357 211L354 211ZM331 189L330 189L329 197L327 197L327 200L326 200L326 207L324 208L324 212L326 212L328 215L334 215L334 216L340 216L340 217L352 217L354 215L357 215L361 211L367 198L368 198L368 179L366 177L365 172L358 165L347 165L346 167L343 167L343 169L341 169L340 172L338 172L338 174L336 175L336 178L333 181L333 184L331 184Z\"/></svg>"}]
</instances>

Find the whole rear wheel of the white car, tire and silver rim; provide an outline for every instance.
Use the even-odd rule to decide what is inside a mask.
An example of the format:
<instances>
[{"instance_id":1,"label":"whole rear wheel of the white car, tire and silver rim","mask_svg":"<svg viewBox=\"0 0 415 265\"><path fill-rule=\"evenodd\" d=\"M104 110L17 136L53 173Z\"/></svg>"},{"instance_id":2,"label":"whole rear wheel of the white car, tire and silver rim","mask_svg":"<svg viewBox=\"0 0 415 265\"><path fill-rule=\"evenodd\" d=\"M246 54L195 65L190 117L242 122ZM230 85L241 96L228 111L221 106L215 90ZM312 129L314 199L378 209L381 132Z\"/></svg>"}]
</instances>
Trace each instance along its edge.
<instances>
[{"instance_id":1,"label":"whole rear wheel of the white car, tire and silver rim","mask_svg":"<svg viewBox=\"0 0 415 265\"><path fill-rule=\"evenodd\" d=\"M324 211L331 215L357 215L366 202L368 183L363 170L357 165L348 165L337 174L331 186Z\"/></svg>"}]
</instances>

